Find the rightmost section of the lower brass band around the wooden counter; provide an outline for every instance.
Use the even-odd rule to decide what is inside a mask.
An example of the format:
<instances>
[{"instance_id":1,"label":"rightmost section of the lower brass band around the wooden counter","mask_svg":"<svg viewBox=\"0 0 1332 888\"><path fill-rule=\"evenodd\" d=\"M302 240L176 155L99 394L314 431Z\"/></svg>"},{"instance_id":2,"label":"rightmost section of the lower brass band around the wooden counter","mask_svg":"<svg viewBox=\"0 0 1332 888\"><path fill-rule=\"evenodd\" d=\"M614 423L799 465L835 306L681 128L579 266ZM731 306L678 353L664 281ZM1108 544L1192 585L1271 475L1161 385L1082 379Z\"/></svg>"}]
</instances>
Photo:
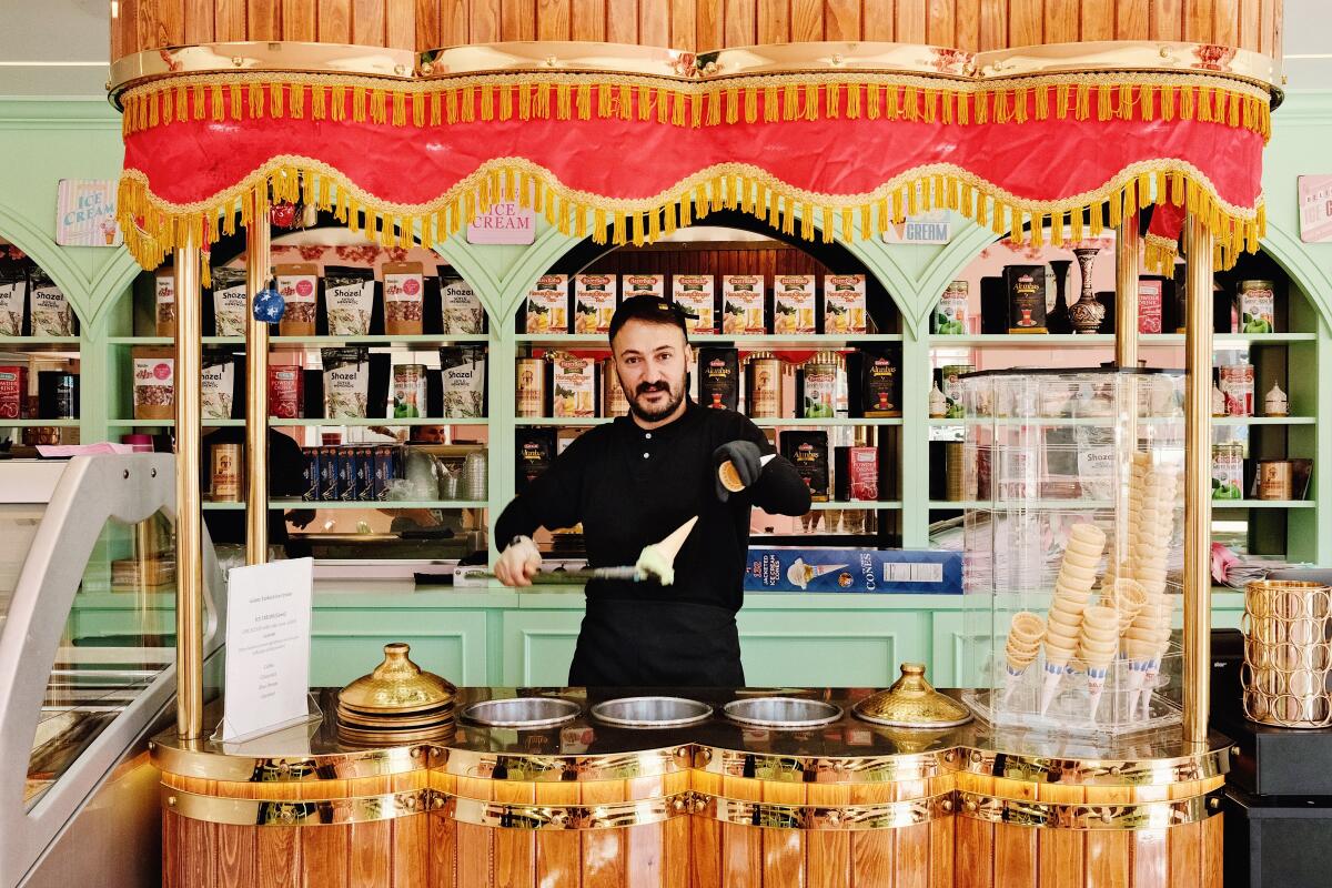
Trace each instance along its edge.
<instances>
[{"instance_id":1,"label":"rightmost section of the lower brass band around the wooden counter","mask_svg":"<svg viewBox=\"0 0 1332 888\"><path fill-rule=\"evenodd\" d=\"M1139 804L1054 804L1028 799L1000 799L959 792L956 812L962 817L1043 829L1166 829L1207 820L1221 812L1216 789L1201 796L1173 801Z\"/></svg>"}]
</instances>

